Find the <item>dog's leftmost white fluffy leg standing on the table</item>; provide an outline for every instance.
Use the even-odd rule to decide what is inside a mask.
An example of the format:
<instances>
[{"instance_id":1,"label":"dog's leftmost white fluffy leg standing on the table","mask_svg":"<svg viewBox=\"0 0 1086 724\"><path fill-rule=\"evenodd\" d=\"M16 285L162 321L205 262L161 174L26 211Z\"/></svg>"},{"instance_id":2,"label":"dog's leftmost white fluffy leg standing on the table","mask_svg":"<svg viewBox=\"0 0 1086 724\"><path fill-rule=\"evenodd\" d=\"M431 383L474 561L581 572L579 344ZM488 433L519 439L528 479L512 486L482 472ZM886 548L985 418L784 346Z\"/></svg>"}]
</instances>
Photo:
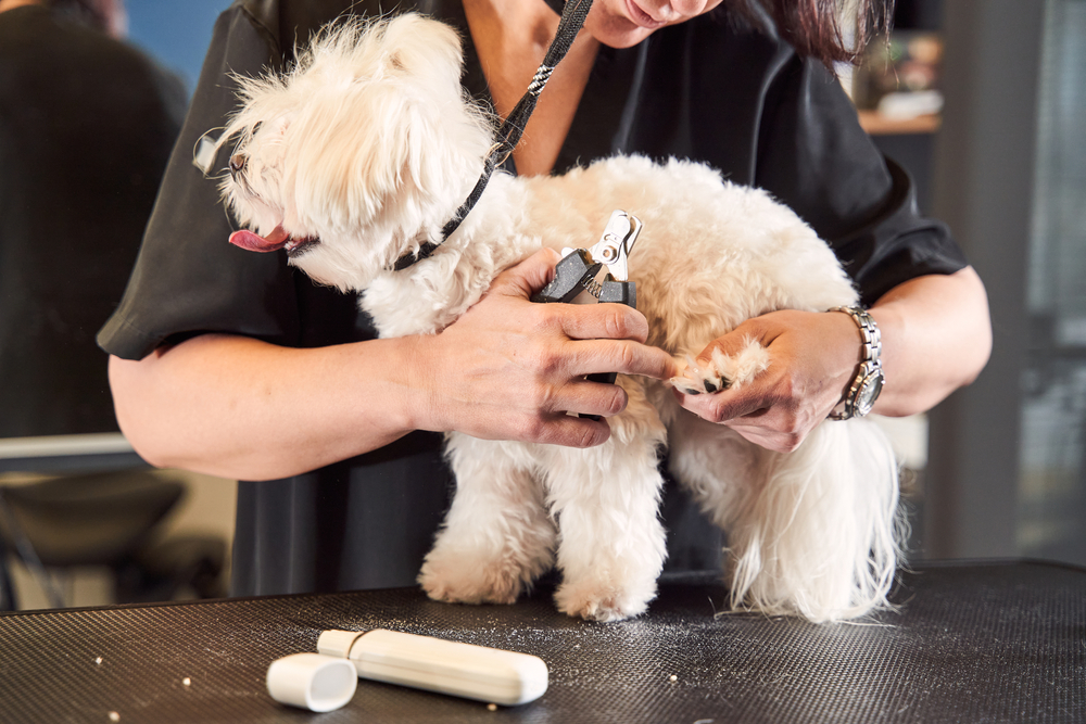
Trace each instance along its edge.
<instances>
[{"instance_id":1,"label":"dog's leftmost white fluffy leg standing on the table","mask_svg":"<svg viewBox=\"0 0 1086 724\"><path fill-rule=\"evenodd\" d=\"M419 583L437 600L512 604L554 562L555 528L527 448L449 437L456 495Z\"/></svg>"}]
</instances>

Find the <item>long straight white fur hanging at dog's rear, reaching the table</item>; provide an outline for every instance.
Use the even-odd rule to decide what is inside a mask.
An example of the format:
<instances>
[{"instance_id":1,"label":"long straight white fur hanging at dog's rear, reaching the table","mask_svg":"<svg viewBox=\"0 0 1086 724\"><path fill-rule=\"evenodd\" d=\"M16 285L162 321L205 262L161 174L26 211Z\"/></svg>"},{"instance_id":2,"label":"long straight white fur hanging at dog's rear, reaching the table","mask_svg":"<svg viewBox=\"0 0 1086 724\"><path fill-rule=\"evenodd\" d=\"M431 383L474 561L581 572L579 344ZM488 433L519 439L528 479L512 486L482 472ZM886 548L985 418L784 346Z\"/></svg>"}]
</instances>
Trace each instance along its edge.
<instances>
[{"instance_id":1,"label":"long straight white fur hanging at dog's rear, reaching the table","mask_svg":"<svg viewBox=\"0 0 1086 724\"><path fill-rule=\"evenodd\" d=\"M732 607L816 622L888 607L907 523L885 434L828 421L765 470L729 530Z\"/></svg>"}]
</instances>

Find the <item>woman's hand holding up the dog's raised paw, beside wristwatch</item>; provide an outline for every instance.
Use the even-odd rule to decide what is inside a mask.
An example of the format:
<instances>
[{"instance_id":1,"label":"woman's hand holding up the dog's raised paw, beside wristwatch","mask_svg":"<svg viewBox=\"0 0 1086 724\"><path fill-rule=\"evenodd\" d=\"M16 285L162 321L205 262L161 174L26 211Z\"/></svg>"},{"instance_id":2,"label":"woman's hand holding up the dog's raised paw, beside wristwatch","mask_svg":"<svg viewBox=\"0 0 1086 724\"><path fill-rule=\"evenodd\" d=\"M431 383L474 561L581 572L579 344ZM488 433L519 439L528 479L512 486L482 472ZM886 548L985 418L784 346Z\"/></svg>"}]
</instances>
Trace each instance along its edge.
<instances>
[{"instance_id":1,"label":"woman's hand holding up the dog's raised paw, beside wristwatch","mask_svg":"<svg viewBox=\"0 0 1086 724\"><path fill-rule=\"evenodd\" d=\"M714 348L734 354L748 339L770 354L769 368L754 381L714 394L674 394L680 405L710 422L727 424L762 447L792 452L826 418L856 376L856 325L839 313L772 312L715 340L695 361L707 366Z\"/></svg>"}]
</instances>

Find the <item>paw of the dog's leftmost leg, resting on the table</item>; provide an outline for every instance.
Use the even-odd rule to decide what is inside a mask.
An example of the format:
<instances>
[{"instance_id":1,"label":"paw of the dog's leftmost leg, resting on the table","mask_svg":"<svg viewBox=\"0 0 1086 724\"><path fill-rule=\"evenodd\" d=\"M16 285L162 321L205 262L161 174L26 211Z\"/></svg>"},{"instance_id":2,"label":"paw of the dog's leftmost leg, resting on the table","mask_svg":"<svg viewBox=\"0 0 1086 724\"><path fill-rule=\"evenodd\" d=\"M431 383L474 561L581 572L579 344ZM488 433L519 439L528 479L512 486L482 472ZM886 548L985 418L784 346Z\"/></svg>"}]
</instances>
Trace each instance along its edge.
<instances>
[{"instance_id":1,"label":"paw of the dog's leftmost leg, resting on the table","mask_svg":"<svg viewBox=\"0 0 1086 724\"><path fill-rule=\"evenodd\" d=\"M513 604L528 583L515 567L432 551L418 582L427 596L449 604Z\"/></svg>"}]
</instances>

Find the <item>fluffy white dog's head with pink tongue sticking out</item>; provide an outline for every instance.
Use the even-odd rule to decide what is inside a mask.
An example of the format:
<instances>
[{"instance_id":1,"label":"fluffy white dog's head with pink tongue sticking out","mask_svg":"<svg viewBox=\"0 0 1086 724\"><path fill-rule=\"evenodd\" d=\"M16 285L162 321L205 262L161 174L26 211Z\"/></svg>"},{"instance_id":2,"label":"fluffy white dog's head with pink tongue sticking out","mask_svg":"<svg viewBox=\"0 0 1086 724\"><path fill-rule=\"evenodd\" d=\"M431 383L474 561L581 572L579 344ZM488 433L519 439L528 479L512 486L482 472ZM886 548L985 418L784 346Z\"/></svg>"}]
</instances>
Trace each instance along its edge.
<instances>
[{"instance_id":1,"label":"fluffy white dog's head with pink tongue sticking out","mask_svg":"<svg viewBox=\"0 0 1086 724\"><path fill-rule=\"evenodd\" d=\"M239 78L223 196L252 230L231 243L286 249L315 280L363 289L434 238L481 173L485 114L460 87L459 38L415 14L340 23L282 75Z\"/></svg>"}]
</instances>

